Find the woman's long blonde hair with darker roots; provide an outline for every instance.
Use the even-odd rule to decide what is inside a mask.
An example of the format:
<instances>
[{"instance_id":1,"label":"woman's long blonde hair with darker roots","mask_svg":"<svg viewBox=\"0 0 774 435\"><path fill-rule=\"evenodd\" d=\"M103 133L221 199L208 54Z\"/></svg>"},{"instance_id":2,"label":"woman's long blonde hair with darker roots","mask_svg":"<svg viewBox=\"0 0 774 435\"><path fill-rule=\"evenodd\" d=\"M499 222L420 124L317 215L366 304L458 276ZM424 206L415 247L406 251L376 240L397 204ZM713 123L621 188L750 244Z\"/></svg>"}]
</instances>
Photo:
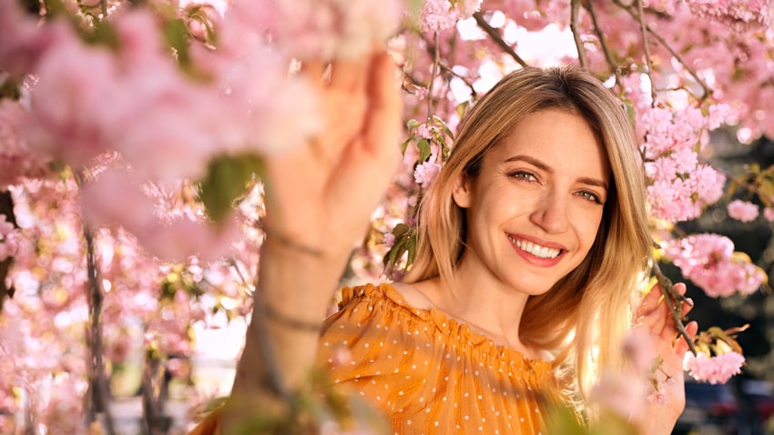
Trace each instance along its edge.
<instances>
[{"instance_id":1,"label":"woman's long blonde hair with darker roots","mask_svg":"<svg viewBox=\"0 0 774 435\"><path fill-rule=\"evenodd\" d=\"M620 366L620 344L635 291L647 270L645 175L623 105L577 66L527 67L505 76L463 118L453 151L418 216L417 253L404 282L453 279L465 243L464 210L452 197L458 177L476 177L486 152L529 114L560 109L583 116L606 150L612 172L596 240L585 260L545 294L529 298L522 341L555 355L586 397L599 370ZM550 320L548 320L550 319Z\"/></svg>"}]
</instances>

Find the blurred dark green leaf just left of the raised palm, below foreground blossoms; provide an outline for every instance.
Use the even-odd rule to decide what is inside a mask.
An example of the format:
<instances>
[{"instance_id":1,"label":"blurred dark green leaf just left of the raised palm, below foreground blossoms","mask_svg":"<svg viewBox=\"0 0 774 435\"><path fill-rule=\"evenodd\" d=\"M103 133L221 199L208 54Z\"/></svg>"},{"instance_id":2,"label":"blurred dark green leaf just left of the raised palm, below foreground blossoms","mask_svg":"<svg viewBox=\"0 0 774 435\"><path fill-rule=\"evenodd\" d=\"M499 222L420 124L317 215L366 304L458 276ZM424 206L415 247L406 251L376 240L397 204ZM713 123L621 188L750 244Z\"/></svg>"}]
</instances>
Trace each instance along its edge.
<instances>
[{"instance_id":1,"label":"blurred dark green leaf just left of the raised palm, below foreground blossoms","mask_svg":"<svg viewBox=\"0 0 774 435\"><path fill-rule=\"evenodd\" d=\"M209 162L207 177L199 183L199 198L215 222L228 216L234 200L244 194L250 180L263 172L259 156L220 156Z\"/></svg>"}]
</instances>

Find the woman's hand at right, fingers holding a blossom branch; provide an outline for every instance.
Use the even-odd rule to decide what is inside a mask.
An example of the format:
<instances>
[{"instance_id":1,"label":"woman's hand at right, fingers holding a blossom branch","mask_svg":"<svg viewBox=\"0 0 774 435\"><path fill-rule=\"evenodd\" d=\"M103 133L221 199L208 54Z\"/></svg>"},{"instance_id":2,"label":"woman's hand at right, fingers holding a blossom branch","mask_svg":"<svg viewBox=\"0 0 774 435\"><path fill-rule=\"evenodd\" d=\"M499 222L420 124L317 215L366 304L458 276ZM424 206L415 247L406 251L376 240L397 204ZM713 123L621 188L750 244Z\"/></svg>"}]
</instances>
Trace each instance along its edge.
<instances>
[{"instance_id":1,"label":"woman's hand at right, fingers holding a blossom branch","mask_svg":"<svg viewBox=\"0 0 774 435\"><path fill-rule=\"evenodd\" d=\"M677 283L675 290L678 294L685 295L686 286ZM656 400L650 400L645 413L646 421L641 422L641 433L648 434L670 433L686 404L683 357L688 350L688 344L683 336L678 335L667 300L662 296L660 285L656 285L637 308L637 328L647 329L656 351L654 358L661 360L654 373L658 390L652 397ZM685 316L692 308L693 301L688 298L680 307L681 315ZM696 337L698 324L695 321L688 323L686 331L693 339Z\"/></svg>"}]
</instances>

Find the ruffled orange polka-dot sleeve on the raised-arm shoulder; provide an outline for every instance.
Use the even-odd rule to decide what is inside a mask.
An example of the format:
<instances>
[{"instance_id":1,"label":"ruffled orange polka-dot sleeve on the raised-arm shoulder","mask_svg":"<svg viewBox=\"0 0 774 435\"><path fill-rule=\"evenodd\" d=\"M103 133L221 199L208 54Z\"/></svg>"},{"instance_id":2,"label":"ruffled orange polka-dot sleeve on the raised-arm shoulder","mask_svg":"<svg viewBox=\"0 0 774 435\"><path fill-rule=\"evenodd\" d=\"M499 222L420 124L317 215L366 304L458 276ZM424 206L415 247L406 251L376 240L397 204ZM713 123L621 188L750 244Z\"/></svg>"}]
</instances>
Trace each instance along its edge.
<instances>
[{"instance_id":1,"label":"ruffled orange polka-dot sleeve on the raised-arm shoulder","mask_svg":"<svg viewBox=\"0 0 774 435\"><path fill-rule=\"evenodd\" d=\"M419 399L432 331L397 291L387 295L385 289L341 289L340 310L322 327L317 364L392 415Z\"/></svg>"}]
</instances>

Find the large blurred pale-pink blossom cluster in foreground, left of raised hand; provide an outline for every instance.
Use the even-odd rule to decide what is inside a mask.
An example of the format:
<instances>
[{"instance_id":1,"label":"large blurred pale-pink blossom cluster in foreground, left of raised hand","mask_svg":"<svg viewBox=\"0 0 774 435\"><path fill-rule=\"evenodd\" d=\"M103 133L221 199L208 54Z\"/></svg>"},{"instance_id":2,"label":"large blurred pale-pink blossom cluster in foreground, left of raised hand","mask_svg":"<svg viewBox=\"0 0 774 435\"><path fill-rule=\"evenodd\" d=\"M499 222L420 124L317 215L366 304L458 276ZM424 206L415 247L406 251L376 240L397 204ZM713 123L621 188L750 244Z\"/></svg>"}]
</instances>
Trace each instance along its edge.
<instances>
[{"instance_id":1,"label":"large blurred pale-pink blossom cluster in foreground, left of raised hand","mask_svg":"<svg viewBox=\"0 0 774 435\"><path fill-rule=\"evenodd\" d=\"M226 47L211 52L210 63L199 66L215 74L210 83L175 64L148 10L118 12L111 24L117 51L87 46L74 32L61 31L36 58L29 71L37 77L31 146L76 168L115 150L140 177L199 179L213 156L276 152L316 129L304 121L316 119L311 87L300 77L288 78L287 59L269 48L250 46L244 57L229 57ZM16 27L35 25L20 17ZM24 38L43 35L19 29L11 43L33 44Z\"/></svg>"}]
</instances>

